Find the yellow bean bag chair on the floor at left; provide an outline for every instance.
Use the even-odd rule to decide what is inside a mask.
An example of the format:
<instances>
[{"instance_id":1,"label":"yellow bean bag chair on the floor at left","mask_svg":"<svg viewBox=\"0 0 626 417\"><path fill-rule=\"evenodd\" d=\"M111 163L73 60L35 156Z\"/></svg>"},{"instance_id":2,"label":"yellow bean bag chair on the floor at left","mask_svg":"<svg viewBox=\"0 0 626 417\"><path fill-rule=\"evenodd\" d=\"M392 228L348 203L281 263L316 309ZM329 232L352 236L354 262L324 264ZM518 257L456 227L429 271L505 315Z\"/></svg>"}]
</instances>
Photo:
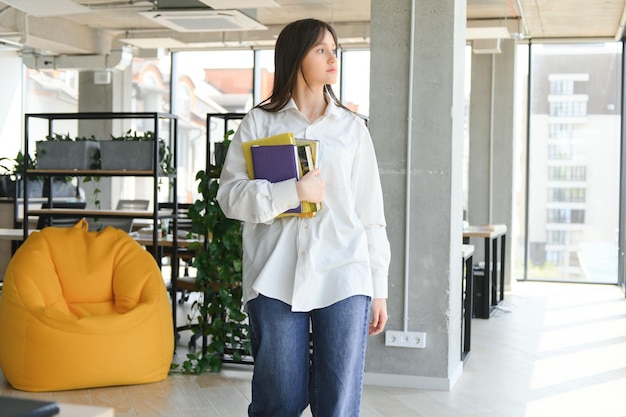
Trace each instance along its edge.
<instances>
[{"instance_id":1,"label":"yellow bean bag chair on the floor at left","mask_svg":"<svg viewBox=\"0 0 626 417\"><path fill-rule=\"evenodd\" d=\"M174 353L154 258L126 232L47 227L16 251L0 296L0 367L24 391L156 382Z\"/></svg>"}]
</instances>

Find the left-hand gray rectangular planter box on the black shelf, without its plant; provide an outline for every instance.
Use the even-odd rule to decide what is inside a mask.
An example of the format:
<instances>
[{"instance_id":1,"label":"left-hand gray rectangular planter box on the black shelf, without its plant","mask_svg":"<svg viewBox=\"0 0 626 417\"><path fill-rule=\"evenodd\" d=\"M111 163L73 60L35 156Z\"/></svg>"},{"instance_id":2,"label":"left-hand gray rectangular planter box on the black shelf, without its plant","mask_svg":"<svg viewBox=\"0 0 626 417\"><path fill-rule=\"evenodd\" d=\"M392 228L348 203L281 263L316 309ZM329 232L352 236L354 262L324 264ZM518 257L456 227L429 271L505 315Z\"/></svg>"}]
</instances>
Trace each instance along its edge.
<instances>
[{"instance_id":1,"label":"left-hand gray rectangular planter box on the black shelf, without its plant","mask_svg":"<svg viewBox=\"0 0 626 417\"><path fill-rule=\"evenodd\" d=\"M38 141L37 168L93 169L98 159L99 143L84 141Z\"/></svg>"}]
</instances>

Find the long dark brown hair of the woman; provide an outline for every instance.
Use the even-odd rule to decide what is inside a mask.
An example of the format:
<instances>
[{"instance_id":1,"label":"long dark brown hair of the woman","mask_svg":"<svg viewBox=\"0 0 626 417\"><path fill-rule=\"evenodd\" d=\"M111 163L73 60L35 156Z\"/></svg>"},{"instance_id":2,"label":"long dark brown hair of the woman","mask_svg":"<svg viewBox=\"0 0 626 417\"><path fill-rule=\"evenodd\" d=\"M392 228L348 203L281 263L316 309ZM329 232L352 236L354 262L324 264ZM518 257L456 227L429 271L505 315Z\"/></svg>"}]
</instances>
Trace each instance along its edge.
<instances>
[{"instance_id":1,"label":"long dark brown hair of the woman","mask_svg":"<svg viewBox=\"0 0 626 417\"><path fill-rule=\"evenodd\" d=\"M296 87L298 71L302 71L304 57L320 41L326 31L331 33L335 45L337 45L335 29L321 20L297 20L283 28L276 40L274 51L274 87L272 88L272 94L256 107L269 112L276 112L287 104ZM329 84L326 84L325 90L336 105L344 107L335 96Z\"/></svg>"}]
</instances>

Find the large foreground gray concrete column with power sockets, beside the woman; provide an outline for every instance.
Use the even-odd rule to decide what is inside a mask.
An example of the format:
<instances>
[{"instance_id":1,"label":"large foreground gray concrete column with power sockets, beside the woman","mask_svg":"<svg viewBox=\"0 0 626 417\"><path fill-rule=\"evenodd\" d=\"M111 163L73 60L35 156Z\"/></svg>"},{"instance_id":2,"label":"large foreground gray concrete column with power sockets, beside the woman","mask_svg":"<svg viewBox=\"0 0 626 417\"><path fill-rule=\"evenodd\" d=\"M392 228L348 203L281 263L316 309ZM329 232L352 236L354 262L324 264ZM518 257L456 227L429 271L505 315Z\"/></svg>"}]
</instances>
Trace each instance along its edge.
<instances>
[{"instance_id":1,"label":"large foreground gray concrete column with power sockets, beside the woman","mask_svg":"<svg viewBox=\"0 0 626 417\"><path fill-rule=\"evenodd\" d=\"M387 330L426 332L426 347L370 338L366 383L447 390L462 373L466 4L415 4L372 2L370 131L392 248Z\"/></svg>"}]
</instances>

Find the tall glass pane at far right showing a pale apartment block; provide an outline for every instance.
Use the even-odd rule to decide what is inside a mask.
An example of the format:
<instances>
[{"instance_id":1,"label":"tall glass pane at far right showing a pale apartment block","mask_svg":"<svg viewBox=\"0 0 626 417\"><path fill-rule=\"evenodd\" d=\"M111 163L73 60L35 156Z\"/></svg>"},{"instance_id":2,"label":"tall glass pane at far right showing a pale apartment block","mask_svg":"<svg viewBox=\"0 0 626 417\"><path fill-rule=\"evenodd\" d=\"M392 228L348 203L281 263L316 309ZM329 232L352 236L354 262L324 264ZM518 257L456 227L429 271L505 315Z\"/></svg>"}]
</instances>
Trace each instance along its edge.
<instances>
[{"instance_id":1,"label":"tall glass pane at far right showing a pale apartment block","mask_svg":"<svg viewBox=\"0 0 626 417\"><path fill-rule=\"evenodd\" d=\"M528 279L617 282L621 54L530 47Z\"/></svg>"}]
</instances>

